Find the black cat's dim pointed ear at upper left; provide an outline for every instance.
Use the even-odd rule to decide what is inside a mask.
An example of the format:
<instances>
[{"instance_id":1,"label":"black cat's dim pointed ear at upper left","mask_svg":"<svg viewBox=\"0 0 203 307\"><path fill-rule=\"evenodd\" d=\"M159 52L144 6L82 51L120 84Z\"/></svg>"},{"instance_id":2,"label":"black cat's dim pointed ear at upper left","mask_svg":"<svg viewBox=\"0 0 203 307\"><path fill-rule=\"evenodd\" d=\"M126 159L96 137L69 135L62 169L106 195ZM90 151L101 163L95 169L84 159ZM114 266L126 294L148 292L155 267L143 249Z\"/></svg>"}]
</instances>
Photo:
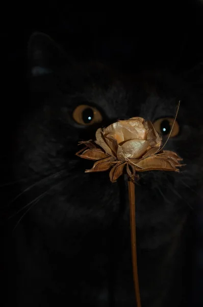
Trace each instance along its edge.
<instances>
[{"instance_id":1,"label":"black cat's dim pointed ear at upper left","mask_svg":"<svg viewBox=\"0 0 203 307\"><path fill-rule=\"evenodd\" d=\"M31 76L51 74L67 62L65 51L48 35L35 32L28 43L28 58Z\"/></svg>"}]
</instances>

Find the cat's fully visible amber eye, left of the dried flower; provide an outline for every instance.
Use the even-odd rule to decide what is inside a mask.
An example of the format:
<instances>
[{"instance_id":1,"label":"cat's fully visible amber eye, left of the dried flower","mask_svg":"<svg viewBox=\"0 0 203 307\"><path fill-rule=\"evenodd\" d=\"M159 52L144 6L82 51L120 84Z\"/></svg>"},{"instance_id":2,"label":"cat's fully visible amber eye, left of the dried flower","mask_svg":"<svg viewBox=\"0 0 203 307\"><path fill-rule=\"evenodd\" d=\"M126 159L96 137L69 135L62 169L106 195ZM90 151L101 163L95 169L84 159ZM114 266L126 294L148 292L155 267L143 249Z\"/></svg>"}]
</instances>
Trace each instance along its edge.
<instances>
[{"instance_id":1,"label":"cat's fully visible amber eye, left of the dried flower","mask_svg":"<svg viewBox=\"0 0 203 307\"><path fill-rule=\"evenodd\" d=\"M97 110L97 108L87 105L78 105L73 113L72 117L80 125L88 126L102 121L102 115Z\"/></svg>"}]
</instances>

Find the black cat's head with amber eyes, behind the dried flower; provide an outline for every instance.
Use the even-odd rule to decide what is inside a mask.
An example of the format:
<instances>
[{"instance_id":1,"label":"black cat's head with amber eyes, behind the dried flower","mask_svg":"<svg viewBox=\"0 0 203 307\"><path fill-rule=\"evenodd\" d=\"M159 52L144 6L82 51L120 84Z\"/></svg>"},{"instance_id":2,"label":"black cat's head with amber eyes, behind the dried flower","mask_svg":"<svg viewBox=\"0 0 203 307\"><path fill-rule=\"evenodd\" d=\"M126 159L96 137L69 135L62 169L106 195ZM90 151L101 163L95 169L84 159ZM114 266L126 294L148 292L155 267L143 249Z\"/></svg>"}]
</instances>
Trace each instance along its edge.
<instances>
[{"instance_id":1,"label":"black cat's head with amber eyes, behind the dried flower","mask_svg":"<svg viewBox=\"0 0 203 307\"><path fill-rule=\"evenodd\" d=\"M69 63L58 46L41 35L32 37L29 56L31 100L18 131L22 159L16 172L19 178L32 178L28 186L36 182L28 200L39 196L33 211L43 224L66 228L68 216L73 224L81 218L89 221L92 230L108 227L121 210L120 189L124 182L110 183L108 172L85 173L92 163L75 156L80 149L78 142L94 139L99 126L134 116L154 122L158 132L163 133L164 142L170 121L157 120L172 119L179 99L183 101L176 135L169 139L165 149L176 151L186 166L178 174L162 171L141 174L136 187L138 227L156 223L159 216L162 219L163 206L167 215L174 207L187 209L193 205L191 188L200 178L197 161L201 155L201 118L195 98L191 95L193 100L185 99L187 89L183 90L182 84L170 84L172 89L168 92L165 84L164 94L147 97L137 84L116 77L102 65ZM160 212L156 211L156 217L148 221L145 212L153 215L155 209ZM128 219L126 214L123 218Z\"/></svg>"}]
</instances>

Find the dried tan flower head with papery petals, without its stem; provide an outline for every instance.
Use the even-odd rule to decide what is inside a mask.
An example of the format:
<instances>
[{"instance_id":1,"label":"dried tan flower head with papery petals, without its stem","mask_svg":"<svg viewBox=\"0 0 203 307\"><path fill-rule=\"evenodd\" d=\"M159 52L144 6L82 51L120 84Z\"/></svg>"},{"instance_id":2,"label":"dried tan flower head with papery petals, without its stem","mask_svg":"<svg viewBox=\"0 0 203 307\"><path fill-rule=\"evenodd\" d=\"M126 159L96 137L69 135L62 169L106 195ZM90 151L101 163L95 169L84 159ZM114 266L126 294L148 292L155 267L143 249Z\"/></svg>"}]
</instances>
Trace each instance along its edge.
<instances>
[{"instance_id":1,"label":"dried tan flower head with papery petals, without its stem","mask_svg":"<svg viewBox=\"0 0 203 307\"><path fill-rule=\"evenodd\" d=\"M86 148L77 152L81 158L97 160L86 172L105 171L112 167L110 180L115 182L124 166L134 181L136 171L179 171L182 159L173 151L162 150L162 139L150 121L141 117L121 120L96 131L96 140L80 142Z\"/></svg>"}]
</instances>

